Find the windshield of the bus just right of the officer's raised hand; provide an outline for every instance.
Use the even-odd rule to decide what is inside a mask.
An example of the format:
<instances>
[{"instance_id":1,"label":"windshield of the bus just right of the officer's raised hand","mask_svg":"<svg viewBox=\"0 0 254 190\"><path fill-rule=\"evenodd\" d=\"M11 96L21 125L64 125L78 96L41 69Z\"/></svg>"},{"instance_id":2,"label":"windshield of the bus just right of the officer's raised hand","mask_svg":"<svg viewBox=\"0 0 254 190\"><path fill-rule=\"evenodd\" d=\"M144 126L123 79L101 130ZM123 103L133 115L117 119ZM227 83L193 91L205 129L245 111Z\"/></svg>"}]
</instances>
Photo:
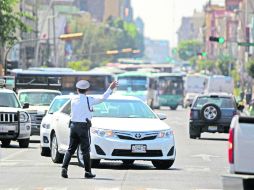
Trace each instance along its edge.
<instances>
[{"instance_id":1,"label":"windshield of the bus just right of the officer's raised hand","mask_svg":"<svg viewBox=\"0 0 254 190\"><path fill-rule=\"evenodd\" d=\"M146 77L120 77L118 78L119 87L118 90L127 91L145 91L147 90L147 78Z\"/></svg>"}]
</instances>

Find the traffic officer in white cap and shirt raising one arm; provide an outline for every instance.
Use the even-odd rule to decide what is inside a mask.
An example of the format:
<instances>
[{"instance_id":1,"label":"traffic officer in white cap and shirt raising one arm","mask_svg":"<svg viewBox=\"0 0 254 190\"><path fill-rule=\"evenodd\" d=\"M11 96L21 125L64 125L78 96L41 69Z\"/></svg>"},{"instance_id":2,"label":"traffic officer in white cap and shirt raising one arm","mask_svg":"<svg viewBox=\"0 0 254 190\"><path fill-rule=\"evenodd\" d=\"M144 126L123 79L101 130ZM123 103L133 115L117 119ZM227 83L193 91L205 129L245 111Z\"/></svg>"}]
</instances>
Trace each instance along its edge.
<instances>
[{"instance_id":1,"label":"traffic officer in white cap and shirt raising one arm","mask_svg":"<svg viewBox=\"0 0 254 190\"><path fill-rule=\"evenodd\" d=\"M63 178L68 178L68 165L79 144L83 154L85 166L84 177L95 177L95 175L91 172L90 160L90 127L92 118L92 106L99 104L107 99L117 85L118 82L113 81L101 98L94 98L86 96L86 92L90 87L88 81L80 80L77 82L76 88L78 95L73 97L71 100L70 141L69 148L64 155L62 165L61 175Z\"/></svg>"}]
</instances>

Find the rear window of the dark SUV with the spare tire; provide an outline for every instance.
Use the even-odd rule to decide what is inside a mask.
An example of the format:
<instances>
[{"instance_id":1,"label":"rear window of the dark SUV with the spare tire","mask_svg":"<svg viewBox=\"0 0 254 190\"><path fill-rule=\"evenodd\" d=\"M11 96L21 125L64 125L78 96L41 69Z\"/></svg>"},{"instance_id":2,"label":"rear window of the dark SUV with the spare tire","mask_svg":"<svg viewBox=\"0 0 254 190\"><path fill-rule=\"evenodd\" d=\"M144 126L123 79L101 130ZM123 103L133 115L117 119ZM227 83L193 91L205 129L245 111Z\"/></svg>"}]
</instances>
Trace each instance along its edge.
<instances>
[{"instance_id":1,"label":"rear window of the dark SUV with the spare tire","mask_svg":"<svg viewBox=\"0 0 254 190\"><path fill-rule=\"evenodd\" d=\"M202 108L205 104L216 104L219 108L235 108L234 100L230 97L199 97L194 108Z\"/></svg>"}]
</instances>

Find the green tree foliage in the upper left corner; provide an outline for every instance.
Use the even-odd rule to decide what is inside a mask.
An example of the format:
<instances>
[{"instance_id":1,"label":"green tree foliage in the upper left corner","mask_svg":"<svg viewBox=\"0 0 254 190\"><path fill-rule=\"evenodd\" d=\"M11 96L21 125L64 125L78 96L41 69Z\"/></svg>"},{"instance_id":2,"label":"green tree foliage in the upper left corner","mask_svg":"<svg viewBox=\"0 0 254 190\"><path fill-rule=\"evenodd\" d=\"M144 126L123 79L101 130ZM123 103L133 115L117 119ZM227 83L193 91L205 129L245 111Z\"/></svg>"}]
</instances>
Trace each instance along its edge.
<instances>
[{"instance_id":1,"label":"green tree foliage in the upper left corner","mask_svg":"<svg viewBox=\"0 0 254 190\"><path fill-rule=\"evenodd\" d=\"M28 27L22 22L21 17L28 17L25 13L15 12L14 7L18 0L0 1L0 46L13 44L17 38L17 30L28 31Z\"/></svg>"}]
</instances>

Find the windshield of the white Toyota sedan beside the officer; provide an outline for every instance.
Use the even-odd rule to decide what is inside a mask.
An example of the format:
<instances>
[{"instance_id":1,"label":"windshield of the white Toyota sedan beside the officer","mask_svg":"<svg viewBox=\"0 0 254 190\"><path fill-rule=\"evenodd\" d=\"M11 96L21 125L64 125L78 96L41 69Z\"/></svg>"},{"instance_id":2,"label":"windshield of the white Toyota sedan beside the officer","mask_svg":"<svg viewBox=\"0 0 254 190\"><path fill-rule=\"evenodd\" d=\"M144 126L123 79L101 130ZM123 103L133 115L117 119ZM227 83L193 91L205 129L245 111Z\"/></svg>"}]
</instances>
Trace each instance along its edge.
<instances>
[{"instance_id":1,"label":"windshield of the white Toyota sedan beside the officer","mask_svg":"<svg viewBox=\"0 0 254 190\"><path fill-rule=\"evenodd\" d=\"M93 107L94 117L156 118L156 115L141 101L106 100Z\"/></svg>"}]
</instances>

